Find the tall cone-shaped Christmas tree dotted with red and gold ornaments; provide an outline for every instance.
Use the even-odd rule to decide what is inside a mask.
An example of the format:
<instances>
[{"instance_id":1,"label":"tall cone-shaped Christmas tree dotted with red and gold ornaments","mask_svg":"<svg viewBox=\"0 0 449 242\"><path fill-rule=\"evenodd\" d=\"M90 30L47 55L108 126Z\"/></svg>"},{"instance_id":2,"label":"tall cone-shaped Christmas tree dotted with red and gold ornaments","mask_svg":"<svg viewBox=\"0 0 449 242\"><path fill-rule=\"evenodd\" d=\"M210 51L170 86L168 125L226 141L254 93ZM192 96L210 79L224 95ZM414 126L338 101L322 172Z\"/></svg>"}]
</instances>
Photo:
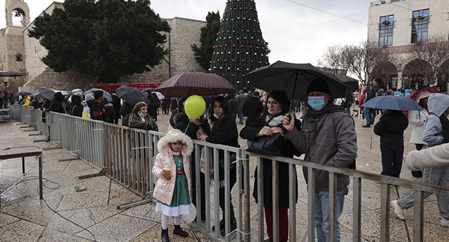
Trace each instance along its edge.
<instances>
[{"instance_id":1,"label":"tall cone-shaped Christmas tree dotted with red and gold ornaments","mask_svg":"<svg viewBox=\"0 0 449 242\"><path fill-rule=\"evenodd\" d=\"M213 50L209 72L225 78L237 90L251 90L245 75L269 65L269 50L253 0L227 1Z\"/></svg>"}]
</instances>

